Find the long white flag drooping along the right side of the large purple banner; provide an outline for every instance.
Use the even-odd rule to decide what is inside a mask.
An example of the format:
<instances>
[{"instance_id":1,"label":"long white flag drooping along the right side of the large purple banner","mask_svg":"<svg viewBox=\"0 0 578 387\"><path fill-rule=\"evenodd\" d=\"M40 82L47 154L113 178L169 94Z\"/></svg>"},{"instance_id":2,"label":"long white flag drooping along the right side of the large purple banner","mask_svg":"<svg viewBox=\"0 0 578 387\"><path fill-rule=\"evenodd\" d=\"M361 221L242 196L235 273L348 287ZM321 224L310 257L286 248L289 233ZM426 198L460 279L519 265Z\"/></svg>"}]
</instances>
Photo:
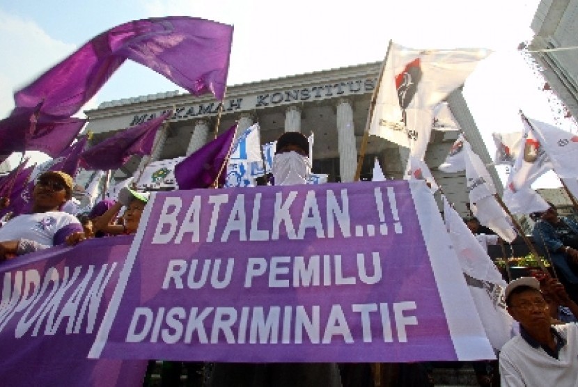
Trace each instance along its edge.
<instances>
[{"instance_id":1,"label":"long white flag drooping along the right side of the large purple banner","mask_svg":"<svg viewBox=\"0 0 578 387\"><path fill-rule=\"evenodd\" d=\"M506 311L503 280L494 262L444 198L444 219L453 251L464 272L471 297L482 320L487 338L499 351L510 340L513 319Z\"/></svg>"}]
</instances>

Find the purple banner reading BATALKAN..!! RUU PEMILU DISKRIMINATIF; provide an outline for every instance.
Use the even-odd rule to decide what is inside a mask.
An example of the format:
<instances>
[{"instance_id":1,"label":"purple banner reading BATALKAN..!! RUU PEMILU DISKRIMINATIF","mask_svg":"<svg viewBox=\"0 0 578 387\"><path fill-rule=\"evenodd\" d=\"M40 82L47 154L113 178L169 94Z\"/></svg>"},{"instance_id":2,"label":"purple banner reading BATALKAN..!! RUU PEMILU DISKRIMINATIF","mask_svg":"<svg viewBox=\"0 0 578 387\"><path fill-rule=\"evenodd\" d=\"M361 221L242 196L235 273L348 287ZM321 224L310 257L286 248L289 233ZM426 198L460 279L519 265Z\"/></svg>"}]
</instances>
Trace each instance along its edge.
<instances>
[{"instance_id":1,"label":"purple banner reading BATALKAN..!! RUU PEMILU DISKRIMINATIF","mask_svg":"<svg viewBox=\"0 0 578 387\"><path fill-rule=\"evenodd\" d=\"M90 356L451 361L452 326L485 350L471 299L456 305L474 328L446 321L451 302L425 239L432 226L447 239L427 190L395 181L157 193ZM467 293L448 256L439 276L455 288L445 294Z\"/></svg>"}]
</instances>

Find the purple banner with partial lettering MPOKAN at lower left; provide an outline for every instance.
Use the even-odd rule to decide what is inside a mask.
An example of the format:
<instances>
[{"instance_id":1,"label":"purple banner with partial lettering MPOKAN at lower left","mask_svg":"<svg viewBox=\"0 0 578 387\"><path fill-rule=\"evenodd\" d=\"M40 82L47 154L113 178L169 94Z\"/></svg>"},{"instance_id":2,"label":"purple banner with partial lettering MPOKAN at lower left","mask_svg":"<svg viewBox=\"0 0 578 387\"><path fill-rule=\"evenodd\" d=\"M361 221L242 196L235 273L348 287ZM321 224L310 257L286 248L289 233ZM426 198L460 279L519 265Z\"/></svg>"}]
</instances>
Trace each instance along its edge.
<instances>
[{"instance_id":1,"label":"purple banner with partial lettering MPOKAN at lower left","mask_svg":"<svg viewBox=\"0 0 578 387\"><path fill-rule=\"evenodd\" d=\"M146 361L88 359L132 237L0 264L2 386L140 386Z\"/></svg>"}]
</instances>

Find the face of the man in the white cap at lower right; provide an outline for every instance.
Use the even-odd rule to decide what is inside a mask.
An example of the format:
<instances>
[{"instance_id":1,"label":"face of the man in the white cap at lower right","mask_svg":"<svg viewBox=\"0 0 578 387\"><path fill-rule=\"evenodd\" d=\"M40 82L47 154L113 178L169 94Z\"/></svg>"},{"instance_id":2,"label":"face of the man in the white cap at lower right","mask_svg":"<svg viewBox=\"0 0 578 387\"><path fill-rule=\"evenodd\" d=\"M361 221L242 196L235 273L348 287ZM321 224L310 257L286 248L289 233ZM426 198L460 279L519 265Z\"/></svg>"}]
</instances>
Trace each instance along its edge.
<instances>
[{"instance_id":1,"label":"face of the man in the white cap at lower right","mask_svg":"<svg viewBox=\"0 0 578 387\"><path fill-rule=\"evenodd\" d=\"M510 296L508 313L526 329L550 326L548 304L536 289Z\"/></svg>"}]
</instances>

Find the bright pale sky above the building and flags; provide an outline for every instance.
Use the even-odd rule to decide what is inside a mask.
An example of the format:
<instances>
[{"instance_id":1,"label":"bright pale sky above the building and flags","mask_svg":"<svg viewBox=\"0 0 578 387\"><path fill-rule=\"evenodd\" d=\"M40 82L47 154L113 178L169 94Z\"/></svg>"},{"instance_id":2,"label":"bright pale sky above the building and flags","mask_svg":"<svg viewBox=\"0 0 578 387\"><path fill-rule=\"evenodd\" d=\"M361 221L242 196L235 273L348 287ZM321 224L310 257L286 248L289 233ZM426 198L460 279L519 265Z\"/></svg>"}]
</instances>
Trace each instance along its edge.
<instances>
[{"instance_id":1,"label":"bright pale sky above the building and flags","mask_svg":"<svg viewBox=\"0 0 578 387\"><path fill-rule=\"evenodd\" d=\"M234 26L229 86L382 61L390 39L414 48L491 49L467 79L464 97L493 156L492 132L520 131L519 109L531 118L553 122L540 90L542 81L517 52L520 42L531 38L529 26L538 3L0 0L0 117L13 109L15 90L95 35L131 20L187 15ZM127 61L84 109L178 89L153 70ZM557 184L556 178L546 176L535 187Z\"/></svg>"}]
</instances>

